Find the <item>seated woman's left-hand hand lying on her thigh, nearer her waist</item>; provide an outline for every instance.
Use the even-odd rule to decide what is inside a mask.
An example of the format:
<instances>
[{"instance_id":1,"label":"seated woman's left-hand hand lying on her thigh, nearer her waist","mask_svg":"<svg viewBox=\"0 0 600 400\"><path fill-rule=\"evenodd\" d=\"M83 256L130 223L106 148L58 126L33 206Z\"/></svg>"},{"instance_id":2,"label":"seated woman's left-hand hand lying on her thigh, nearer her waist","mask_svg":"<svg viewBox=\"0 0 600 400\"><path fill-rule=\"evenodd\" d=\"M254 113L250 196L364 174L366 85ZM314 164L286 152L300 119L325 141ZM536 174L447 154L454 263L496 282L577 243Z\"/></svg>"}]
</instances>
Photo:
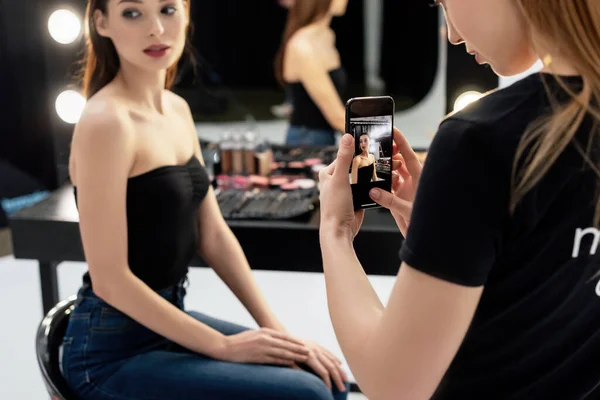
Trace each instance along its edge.
<instances>
[{"instance_id":1,"label":"seated woman's left-hand hand lying on her thigh, nearer her waist","mask_svg":"<svg viewBox=\"0 0 600 400\"><path fill-rule=\"evenodd\" d=\"M293 366L308 361L309 349L287 333L261 328L227 336L217 358L238 363Z\"/></svg>"}]
</instances>

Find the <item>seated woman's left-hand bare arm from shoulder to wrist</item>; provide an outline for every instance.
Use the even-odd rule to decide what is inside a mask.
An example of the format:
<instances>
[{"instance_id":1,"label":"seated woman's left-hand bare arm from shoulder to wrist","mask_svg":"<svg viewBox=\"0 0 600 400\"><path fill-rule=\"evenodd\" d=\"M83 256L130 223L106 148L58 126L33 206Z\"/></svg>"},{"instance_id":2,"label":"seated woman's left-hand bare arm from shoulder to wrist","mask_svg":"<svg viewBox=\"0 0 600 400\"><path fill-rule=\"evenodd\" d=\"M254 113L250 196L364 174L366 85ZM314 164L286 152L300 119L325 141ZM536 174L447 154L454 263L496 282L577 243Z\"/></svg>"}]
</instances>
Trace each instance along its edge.
<instances>
[{"instance_id":1,"label":"seated woman's left-hand bare arm from shoulder to wrist","mask_svg":"<svg viewBox=\"0 0 600 400\"><path fill-rule=\"evenodd\" d=\"M94 292L159 335L215 357L226 345L225 336L169 303L129 268L126 190L135 145L128 117L109 102L88 105L75 129L72 152Z\"/></svg>"}]
</instances>

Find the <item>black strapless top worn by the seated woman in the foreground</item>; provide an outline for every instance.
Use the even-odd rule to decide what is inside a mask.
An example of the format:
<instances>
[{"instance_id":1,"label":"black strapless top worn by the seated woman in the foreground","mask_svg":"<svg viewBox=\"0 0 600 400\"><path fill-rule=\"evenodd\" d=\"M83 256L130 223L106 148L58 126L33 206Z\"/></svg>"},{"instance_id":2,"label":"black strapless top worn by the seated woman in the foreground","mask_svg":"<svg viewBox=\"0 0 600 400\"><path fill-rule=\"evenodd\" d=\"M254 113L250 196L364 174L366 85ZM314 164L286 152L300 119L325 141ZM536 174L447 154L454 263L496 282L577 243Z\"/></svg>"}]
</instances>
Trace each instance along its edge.
<instances>
[{"instance_id":1,"label":"black strapless top worn by the seated woman in the foreground","mask_svg":"<svg viewBox=\"0 0 600 400\"><path fill-rule=\"evenodd\" d=\"M129 178L129 267L152 289L174 285L187 275L198 246L198 206L209 185L208 174L195 156L184 165L163 166ZM77 188L74 192L77 201ZM83 280L92 284L87 272Z\"/></svg>"}]
</instances>

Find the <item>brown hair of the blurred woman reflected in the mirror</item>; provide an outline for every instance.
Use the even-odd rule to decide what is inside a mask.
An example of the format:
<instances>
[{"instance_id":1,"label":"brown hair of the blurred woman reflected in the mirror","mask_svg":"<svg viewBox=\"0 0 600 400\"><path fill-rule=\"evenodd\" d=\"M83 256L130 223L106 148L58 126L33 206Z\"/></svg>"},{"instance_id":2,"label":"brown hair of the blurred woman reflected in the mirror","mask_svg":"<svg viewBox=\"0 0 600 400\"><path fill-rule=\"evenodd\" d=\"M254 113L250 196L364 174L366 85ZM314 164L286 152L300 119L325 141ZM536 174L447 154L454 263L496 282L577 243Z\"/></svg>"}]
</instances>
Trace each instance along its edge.
<instances>
[{"instance_id":1,"label":"brown hair of the blurred woman reflected in the mirror","mask_svg":"<svg viewBox=\"0 0 600 400\"><path fill-rule=\"evenodd\" d=\"M275 56L275 78L281 86L285 86L283 60L288 42L301 28L327 15L331 9L331 2L332 0L296 0L292 8L288 11L281 46Z\"/></svg>"}]
</instances>

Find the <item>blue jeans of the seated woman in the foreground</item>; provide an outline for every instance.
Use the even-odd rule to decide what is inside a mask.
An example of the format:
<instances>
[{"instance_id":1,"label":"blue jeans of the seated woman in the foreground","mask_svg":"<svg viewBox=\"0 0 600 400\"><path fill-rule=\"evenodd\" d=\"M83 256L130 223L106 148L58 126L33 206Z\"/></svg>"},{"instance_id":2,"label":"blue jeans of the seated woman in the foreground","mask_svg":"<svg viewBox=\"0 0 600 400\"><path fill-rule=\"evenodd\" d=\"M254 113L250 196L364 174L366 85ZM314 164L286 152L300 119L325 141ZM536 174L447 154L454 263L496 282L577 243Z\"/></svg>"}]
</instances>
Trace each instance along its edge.
<instances>
[{"instance_id":1,"label":"blue jeans of the seated woman in the foreground","mask_svg":"<svg viewBox=\"0 0 600 400\"><path fill-rule=\"evenodd\" d=\"M159 294L183 310L183 284ZM225 335L248 328L197 312L189 315ZM62 369L80 399L346 399L315 374L218 361L159 336L82 288L63 341Z\"/></svg>"}]
</instances>

